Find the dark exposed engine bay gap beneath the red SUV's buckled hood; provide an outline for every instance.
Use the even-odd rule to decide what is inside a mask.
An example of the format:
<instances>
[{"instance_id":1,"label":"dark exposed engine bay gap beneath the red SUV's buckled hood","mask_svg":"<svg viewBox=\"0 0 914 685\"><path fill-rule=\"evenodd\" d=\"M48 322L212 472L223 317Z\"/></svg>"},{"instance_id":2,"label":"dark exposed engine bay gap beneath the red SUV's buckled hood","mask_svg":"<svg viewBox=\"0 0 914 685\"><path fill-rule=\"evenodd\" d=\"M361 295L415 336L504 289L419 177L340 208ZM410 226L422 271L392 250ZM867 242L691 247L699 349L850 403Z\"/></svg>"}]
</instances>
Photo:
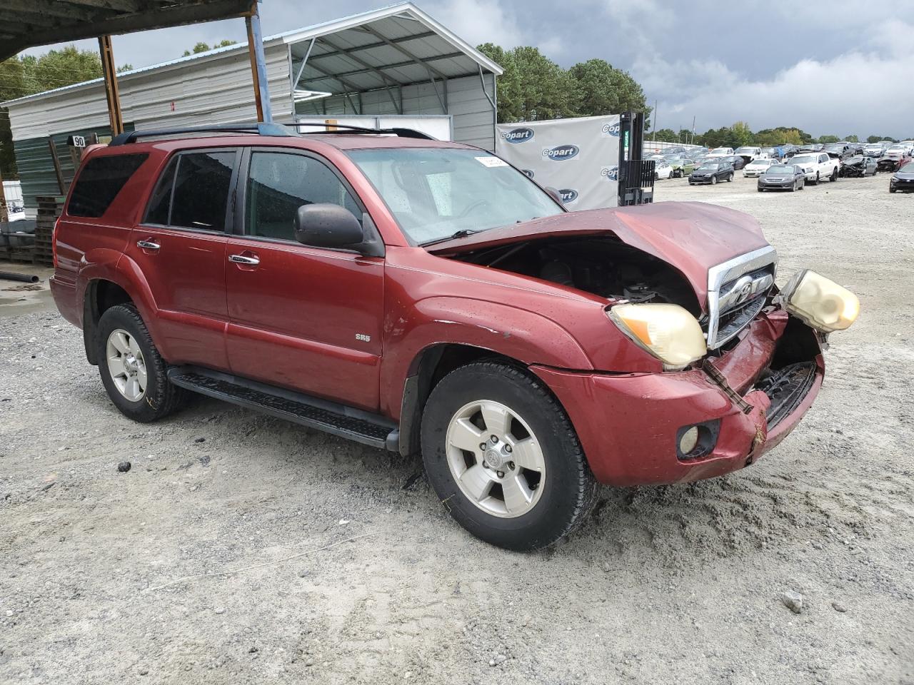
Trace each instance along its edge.
<instances>
[{"instance_id":1,"label":"dark exposed engine bay gap beneath the red SUV's buckled hood","mask_svg":"<svg viewBox=\"0 0 914 685\"><path fill-rule=\"evenodd\" d=\"M662 259L613 237L530 240L454 258L548 280L608 300L669 302L696 317L701 313L695 291L682 274Z\"/></svg>"}]
</instances>

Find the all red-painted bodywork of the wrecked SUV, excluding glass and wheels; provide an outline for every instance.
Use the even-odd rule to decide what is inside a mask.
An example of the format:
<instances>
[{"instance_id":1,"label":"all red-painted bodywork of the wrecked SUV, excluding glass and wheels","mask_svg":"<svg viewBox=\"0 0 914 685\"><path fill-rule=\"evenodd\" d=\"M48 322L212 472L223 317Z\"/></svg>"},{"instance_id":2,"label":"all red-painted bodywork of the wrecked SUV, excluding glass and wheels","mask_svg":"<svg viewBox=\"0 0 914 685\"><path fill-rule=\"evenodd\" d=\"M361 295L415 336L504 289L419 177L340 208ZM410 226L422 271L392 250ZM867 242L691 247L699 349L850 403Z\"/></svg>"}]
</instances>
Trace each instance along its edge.
<instances>
[{"instance_id":1,"label":"all red-painted bodywork of the wrecked SUV, excluding glass and wheels","mask_svg":"<svg viewBox=\"0 0 914 685\"><path fill-rule=\"evenodd\" d=\"M384 258L283 241L143 227L149 195L173 153L285 147L321 155L345 176L377 226ZM557 283L447 258L517 239L614 236L685 276L702 307L707 269L767 246L749 216L700 203L658 203L569 213L496 228L429 250L415 247L345 151L367 147L467 147L362 135L222 136L143 142L97 154L147 153L100 219L69 216L55 235L51 289L68 321L83 324L90 282L130 295L170 364L201 364L399 418L404 384L430 346L451 343L526 364L558 397L590 467L615 485L709 478L739 469L776 445L812 405L813 390L766 434L768 398L752 386L787 334L787 315L766 311L714 364L753 405L742 413L703 371L661 373L659 360L609 321L608 300ZM140 239L161 248L144 250ZM229 254L260 258L257 268ZM807 330L808 332L808 330ZM720 419L716 448L679 461L679 427Z\"/></svg>"}]
</instances>

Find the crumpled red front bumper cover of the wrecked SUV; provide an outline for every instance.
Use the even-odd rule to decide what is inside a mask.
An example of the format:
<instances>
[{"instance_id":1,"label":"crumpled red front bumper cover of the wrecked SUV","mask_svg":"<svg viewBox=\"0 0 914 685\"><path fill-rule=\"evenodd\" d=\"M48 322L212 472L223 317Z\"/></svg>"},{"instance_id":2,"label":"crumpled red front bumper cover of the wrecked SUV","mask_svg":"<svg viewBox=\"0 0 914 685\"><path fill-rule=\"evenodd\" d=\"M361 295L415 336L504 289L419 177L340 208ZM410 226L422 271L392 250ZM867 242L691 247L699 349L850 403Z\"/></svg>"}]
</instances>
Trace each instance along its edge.
<instances>
[{"instance_id":1,"label":"crumpled red front bumper cover of the wrecked SUV","mask_svg":"<svg viewBox=\"0 0 914 685\"><path fill-rule=\"evenodd\" d=\"M755 321L717 364L726 369L734 389L758 377L771 362L787 315L776 311L768 318ZM760 350L769 352L760 354ZM542 366L532 370L568 412L597 479L634 486L713 478L742 469L749 458L759 458L780 443L812 406L824 376L821 353L815 362L818 372L812 389L771 434L765 420L767 395L758 390L745 394L743 398L753 406L746 415L703 371L601 375ZM712 452L705 458L677 459L676 431L713 419L720 419L720 433ZM760 444L754 445L757 439Z\"/></svg>"}]
</instances>

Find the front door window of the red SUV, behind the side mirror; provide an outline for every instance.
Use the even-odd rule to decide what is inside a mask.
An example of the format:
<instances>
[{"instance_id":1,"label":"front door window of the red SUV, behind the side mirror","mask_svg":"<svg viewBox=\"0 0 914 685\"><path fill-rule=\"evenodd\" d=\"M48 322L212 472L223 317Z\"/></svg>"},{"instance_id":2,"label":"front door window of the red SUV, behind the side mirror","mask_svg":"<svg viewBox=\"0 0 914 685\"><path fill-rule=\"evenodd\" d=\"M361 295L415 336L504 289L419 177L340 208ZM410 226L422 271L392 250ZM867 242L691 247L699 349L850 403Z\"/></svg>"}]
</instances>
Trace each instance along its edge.
<instances>
[{"instance_id":1,"label":"front door window of the red SUV, behind the side mirror","mask_svg":"<svg viewBox=\"0 0 914 685\"><path fill-rule=\"evenodd\" d=\"M298 208L314 203L340 205L362 218L339 177L326 164L301 154L252 153L245 202L249 236L294 240Z\"/></svg>"}]
</instances>

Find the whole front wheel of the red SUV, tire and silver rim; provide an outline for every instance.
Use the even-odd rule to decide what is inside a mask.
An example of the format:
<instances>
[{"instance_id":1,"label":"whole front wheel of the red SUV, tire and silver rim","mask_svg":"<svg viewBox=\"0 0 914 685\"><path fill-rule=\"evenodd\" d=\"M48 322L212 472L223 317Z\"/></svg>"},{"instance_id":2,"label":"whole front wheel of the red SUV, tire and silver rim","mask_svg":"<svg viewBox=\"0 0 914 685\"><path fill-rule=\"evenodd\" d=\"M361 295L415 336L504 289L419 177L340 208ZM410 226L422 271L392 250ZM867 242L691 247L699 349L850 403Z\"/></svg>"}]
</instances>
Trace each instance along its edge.
<instances>
[{"instance_id":1,"label":"whole front wheel of the red SUV, tire and silver rim","mask_svg":"<svg viewBox=\"0 0 914 685\"><path fill-rule=\"evenodd\" d=\"M452 517L487 543L526 551L574 530L597 484L565 411L526 371L462 366L422 414L422 460Z\"/></svg>"}]
</instances>

